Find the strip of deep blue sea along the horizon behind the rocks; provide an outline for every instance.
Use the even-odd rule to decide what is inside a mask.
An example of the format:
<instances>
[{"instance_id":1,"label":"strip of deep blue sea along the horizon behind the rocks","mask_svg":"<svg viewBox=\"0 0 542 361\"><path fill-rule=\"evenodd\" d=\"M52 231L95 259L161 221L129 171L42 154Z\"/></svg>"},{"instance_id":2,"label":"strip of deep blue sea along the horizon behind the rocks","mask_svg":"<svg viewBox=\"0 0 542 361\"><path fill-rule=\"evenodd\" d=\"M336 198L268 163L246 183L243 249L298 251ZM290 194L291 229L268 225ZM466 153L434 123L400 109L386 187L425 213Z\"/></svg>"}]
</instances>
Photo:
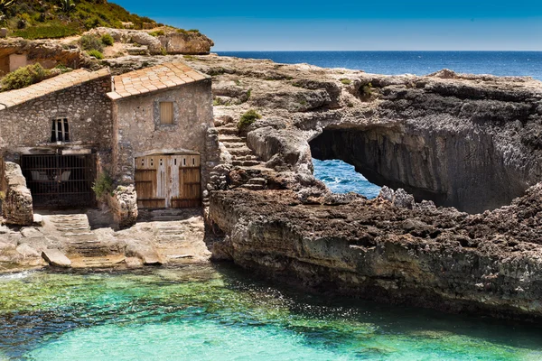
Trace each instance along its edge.
<instances>
[{"instance_id":1,"label":"strip of deep blue sea along the horizon behind the rocks","mask_svg":"<svg viewBox=\"0 0 542 361\"><path fill-rule=\"evenodd\" d=\"M542 51L219 51L219 55L308 63L377 74L430 74L440 69L542 80Z\"/></svg>"}]
</instances>

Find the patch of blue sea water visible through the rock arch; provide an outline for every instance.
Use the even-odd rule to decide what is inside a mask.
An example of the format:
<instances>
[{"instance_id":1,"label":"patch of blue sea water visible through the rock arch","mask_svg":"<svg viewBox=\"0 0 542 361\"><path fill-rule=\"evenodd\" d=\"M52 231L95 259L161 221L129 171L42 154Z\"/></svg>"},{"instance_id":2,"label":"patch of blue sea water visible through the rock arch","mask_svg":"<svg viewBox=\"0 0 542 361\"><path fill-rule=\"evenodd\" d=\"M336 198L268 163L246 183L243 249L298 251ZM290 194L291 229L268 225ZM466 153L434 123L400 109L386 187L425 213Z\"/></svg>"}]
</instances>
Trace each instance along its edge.
<instances>
[{"instance_id":1,"label":"patch of blue sea water visible through the rock arch","mask_svg":"<svg viewBox=\"0 0 542 361\"><path fill-rule=\"evenodd\" d=\"M368 199L378 196L380 187L369 182L362 174L358 173L353 165L334 159L320 161L313 158L314 177L322 180L334 193L348 193L350 191L360 193Z\"/></svg>"}]
</instances>

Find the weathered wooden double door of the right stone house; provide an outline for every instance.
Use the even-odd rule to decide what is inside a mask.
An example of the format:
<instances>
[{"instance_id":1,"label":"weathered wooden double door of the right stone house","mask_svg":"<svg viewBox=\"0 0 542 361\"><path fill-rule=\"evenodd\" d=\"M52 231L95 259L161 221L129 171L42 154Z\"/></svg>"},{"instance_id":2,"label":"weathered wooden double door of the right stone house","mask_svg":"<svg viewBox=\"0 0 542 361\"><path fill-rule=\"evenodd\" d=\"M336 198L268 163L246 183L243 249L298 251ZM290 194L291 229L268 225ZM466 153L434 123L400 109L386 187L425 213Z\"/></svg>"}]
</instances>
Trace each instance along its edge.
<instances>
[{"instance_id":1,"label":"weathered wooden double door of the right stone house","mask_svg":"<svg viewBox=\"0 0 542 361\"><path fill-rule=\"evenodd\" d=\"M139 208L201 206L199 154L153 154L135 158Z\"/></svg>"}]
</instances>

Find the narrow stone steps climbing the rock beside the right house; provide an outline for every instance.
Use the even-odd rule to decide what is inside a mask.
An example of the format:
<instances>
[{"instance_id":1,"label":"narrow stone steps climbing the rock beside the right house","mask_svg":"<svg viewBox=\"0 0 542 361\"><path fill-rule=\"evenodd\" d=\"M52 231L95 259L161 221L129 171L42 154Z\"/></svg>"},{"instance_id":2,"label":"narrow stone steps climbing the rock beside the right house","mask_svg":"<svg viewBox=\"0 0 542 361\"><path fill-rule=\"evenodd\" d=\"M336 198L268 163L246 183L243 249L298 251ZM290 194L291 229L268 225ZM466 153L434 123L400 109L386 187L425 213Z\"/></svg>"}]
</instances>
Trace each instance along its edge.
<instances>
[{"instance_id":1,"label":"narrow stone steps climbing the rock beside the right house","mask_svg":"<svg viewBox=\"0 0 542 361\"><path fill-rule=\"evenodd\" d=\"M261 162L257 155L247 146L247 137L238 134L238 128L235 124L217 126L219 131L219 142L224 144L226 150L231 154L231 165L241 169L266 169L265 162ZM248 190L266 189L265 178L251 178L241 186Z\"/></svg>"}]
</instances>

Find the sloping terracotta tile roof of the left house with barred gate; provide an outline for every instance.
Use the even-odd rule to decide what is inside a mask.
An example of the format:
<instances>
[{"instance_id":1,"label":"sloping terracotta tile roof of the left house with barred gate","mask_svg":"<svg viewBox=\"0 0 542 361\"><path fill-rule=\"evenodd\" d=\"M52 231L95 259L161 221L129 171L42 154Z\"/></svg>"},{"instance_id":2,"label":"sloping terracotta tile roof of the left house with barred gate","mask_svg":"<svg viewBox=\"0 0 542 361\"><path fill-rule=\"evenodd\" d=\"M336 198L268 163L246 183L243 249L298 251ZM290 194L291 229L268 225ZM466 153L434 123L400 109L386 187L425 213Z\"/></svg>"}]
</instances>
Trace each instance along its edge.
<instances>
[{"instance_id":1,"label":"sloping terracotta tile roof of the left house with barred gate","mask_svg":"<svg viewBox=\"0 0 542 361\"><path fill-rule=\"evenodd\" d=\"M98 71L77 69L51 79L45 79L26 88L5 91L0 93L0 110L107 75L109 75L109 69L99 69Z\"/></svg>"}]
</instances>

